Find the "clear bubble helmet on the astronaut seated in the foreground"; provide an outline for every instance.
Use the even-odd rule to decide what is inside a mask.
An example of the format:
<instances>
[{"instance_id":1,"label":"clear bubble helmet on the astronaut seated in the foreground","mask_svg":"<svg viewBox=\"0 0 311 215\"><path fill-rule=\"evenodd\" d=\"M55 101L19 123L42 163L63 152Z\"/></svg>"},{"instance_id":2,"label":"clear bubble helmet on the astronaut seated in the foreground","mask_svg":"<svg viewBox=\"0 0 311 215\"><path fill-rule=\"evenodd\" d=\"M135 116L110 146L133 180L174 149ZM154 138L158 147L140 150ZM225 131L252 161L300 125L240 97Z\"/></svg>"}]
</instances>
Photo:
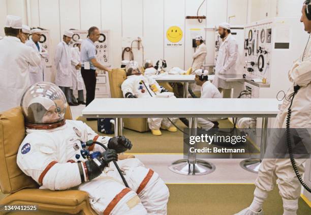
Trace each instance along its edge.
<instances>
[{"instance_id":1,"label":"clear bubble helmet on the astronaut seated in the foreground","mask_svg":"<svg viewBox=\"0 0 311 215\"><path fill-rule=\"evenodd\" d=\"M26 128L44 130L65 124L66 97L53 83L38 82L28 87L20 106L25 116Z\"/></svg>"}]
</instances>

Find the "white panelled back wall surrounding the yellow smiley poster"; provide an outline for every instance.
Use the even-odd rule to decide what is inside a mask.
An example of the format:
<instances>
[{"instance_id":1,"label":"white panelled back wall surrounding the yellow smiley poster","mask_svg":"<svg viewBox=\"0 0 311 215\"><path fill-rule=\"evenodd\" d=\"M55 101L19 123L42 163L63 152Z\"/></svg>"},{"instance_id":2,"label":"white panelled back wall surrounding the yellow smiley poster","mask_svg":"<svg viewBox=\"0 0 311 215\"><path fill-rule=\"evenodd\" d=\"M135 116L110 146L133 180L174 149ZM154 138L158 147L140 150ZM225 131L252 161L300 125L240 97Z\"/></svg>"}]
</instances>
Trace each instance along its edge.
<instances>
[{"instance_id":1,"label":"white panelled back wall surrounding the yellow smiley poster","mask_svg":"<svg viewBox=\"0 0 311 215\"><path fill-rule=\"evenodd\" d=\"M167 60L169 67L188 69L192 64L192 37L199 33L208 47L207 64L213 63L214 34L205 27L215 26L231 18L232 24L245 24L247 21L247 0L206 0L199 15L206 20L185 19L194 16L203 0L0 0L2 14L23 17L30 27L43 27L50 30L51 47L55 48L64 30L69 28L88 29L98 26L110 30L109 60L112 67L119 67L122 47L128 41L142 38L144 59L153 62L160 58ZM229 2L229 3L228 3ZM229 4L229 7L227 5ZM30 14L27 17L27 5ZM6 11L8 8L8 11ZM0 16L1 16L0 15ZM3 15L2 21L5 19ZM166 47L165 35L168 26L178 25L183 30L183 46ZM0 22L0 27L3 26ZM1 27L3 29L3 27ZM1 33L0 33L1 34ZM123 42L122 42L123 41ZM134 43L134 57L142 63L142 49ZM53 59L54 50L50 50ZM125 55L129 59L129 55ZM53 76L53 75L52 75ZM51 78L53 80L53 77Z\"/></svg>"}]
</instances>

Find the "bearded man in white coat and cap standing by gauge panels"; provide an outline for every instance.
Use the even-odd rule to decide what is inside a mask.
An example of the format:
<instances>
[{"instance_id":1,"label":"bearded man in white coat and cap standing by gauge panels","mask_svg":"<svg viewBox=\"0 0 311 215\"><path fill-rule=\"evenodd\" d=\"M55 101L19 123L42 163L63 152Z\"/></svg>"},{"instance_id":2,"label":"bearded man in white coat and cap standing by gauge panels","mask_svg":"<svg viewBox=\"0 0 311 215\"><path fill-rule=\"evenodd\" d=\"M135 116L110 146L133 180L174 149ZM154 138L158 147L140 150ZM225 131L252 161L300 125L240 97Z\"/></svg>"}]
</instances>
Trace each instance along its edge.
<instances>
[{"instance_id":1,"label":"bearded man in white coat and cap standing by gauge panels","mask_svg":"<svg viewBox=\"0 0 311 215\"><path fill-rule=\"evenodd\" d=\"M238 44L231 34L230 24L223 22L219 25L218 32L223 43L219 49L213 84L223 92L224 98L231 97L233 85L219 78L219 75L236 74L236 60L238 58Z\"/></svg>"}]
</instances>

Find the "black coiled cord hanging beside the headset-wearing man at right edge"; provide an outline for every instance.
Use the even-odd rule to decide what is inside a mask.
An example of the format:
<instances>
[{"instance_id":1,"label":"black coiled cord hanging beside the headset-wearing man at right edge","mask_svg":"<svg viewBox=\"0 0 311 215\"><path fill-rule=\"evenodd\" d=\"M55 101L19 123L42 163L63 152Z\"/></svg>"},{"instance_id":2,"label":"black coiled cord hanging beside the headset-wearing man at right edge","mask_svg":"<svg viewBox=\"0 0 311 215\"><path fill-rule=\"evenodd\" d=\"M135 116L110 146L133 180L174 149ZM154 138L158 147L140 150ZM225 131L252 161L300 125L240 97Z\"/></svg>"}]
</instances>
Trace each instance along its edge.
<instances>
[{"instance_id":1,"label":"black coiled cord hanging beside the headset-wearing man at right edge","mask_svg":"<svg viewBox=\"0 0 311 215\"><path fill-rule=\"evenodd\" d=\"M301 183L302 187L306 191L311 193L311 189L306 185L306 183L301 178L301 175L299 174L298 168L296 166L296 162L295 162L294 155L293 155L291 133L290 133L290 122L291 122L291 114L292 114L292 109L291 108L292 108L294 97L297 94L299 89L300 89L299 85L294 86L294 94L292 96L291 104L290 104L290 106L288 108L288 114L287 114L287 118L286 118L286 141L287 141L287 146L288 146L288 151L289 151L289 155L290 155L290 160L291 160L294 172L295 172L299 182Z\"/></svg>"}]
</instances>

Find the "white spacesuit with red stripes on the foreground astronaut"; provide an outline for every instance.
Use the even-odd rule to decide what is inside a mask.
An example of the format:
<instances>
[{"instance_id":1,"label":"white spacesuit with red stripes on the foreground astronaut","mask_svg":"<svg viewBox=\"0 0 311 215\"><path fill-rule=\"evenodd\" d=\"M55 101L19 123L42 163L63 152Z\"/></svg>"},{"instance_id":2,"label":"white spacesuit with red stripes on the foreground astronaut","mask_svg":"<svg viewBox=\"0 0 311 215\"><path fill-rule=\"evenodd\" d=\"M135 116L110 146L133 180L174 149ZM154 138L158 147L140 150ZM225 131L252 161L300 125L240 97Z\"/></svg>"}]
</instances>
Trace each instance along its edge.
<instances>
[{"instance_id":1,"label":"white spacesuit with red stripes on the foreground astronaut","mask_svg":"<svg viewBox=\"0 0 311 215\"><path fill-rule=\"evenodd\" d=\"M86 142L98 136L82 121L66 120L64 126L56 129L27 129L26 133L18 150L17 165L26 175L39 183L42 189L85 191L89 195L91 207L98 214L103 214L116 195L127 191L109 214L147 214L147 211L148 214L167 213L169 198L167 186L156 172L145 168L138 159L117 161L125 173L124 177L130 189L124 186L112 162L99 177L81 183L77 162L84 164L87 160L81 156L81 141ZM109 139L110 137L99 136L97 141L107 146ZM105 151L99 145L95 145L92 149L88 147L88 150ZM52 166L44 173L49 164ZM133 201L133 198L136 200ZM129 207L127 202L131 199Z\"/></svg>"}]
</instances>

